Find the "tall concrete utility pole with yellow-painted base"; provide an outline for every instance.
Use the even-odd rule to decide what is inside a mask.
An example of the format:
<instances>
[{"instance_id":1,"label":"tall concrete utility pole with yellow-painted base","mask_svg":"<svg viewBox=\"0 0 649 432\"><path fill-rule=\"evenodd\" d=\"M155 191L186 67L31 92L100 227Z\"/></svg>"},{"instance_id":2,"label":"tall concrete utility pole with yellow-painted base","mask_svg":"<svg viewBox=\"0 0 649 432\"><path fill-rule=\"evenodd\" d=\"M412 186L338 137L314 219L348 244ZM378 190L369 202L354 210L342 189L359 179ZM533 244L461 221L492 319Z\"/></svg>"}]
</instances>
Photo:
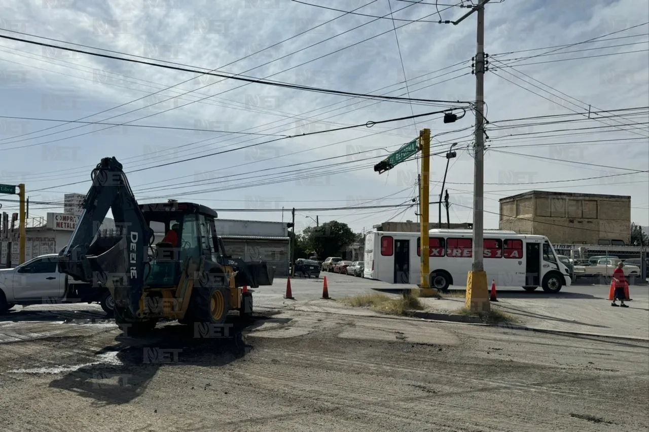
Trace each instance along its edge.
<instances>
[{"instance_id":1,"label":"tall concrete utility pole with yellow-painted base","mask_svg":"<svg viewBox=\"0 0 649 432\"><path fill-rule=\"evenodd\" d=\"M472 312L488 312L489 291L487 289L487 273L484 271L484 5L489 0L483 0L475 6L478 11L476 67L476 144L474 148L475 169L473 179L473 264L467 275L466 305Z\"/></svg>"}]
</instances>

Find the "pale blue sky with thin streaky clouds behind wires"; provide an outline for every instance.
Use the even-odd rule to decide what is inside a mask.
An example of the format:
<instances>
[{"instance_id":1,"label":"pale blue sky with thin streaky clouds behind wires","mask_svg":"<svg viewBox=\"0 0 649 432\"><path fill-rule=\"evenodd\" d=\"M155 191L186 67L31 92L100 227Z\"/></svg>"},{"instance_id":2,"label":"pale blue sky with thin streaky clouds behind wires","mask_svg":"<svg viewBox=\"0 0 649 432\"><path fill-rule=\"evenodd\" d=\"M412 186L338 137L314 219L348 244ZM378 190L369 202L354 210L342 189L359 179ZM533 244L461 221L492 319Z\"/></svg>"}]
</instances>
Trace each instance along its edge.
<instances>
[{"instance_id":1,"label":"pale blue sky with thin streaky clouds behind wires","mask_svg":"<svg viewBox=\"0 0 649 432\"><path fill-rule=\"evenodd\" d=\"M87 193L93 167L115 156L140 203L284 222L295 208L297 231L336 220L361 232L418 220L417 206L397 206L417 197L421 162L373 166L429 128L430 201L457 143L450 222L472 222L477 14L439 23L471 3L305 2L3 1L1 36L190 71L0 39L0 184L24 183L29 216L44 217L63 211L64 193ZM649 175L637 172L649 169L648 21L646 0L485 6L485 228L498 228L499 198L530 190L630 195L631 221L649 224ZM366 126L450 108L455 123L432 114ZM358 127L332 130L345 126ZM322 133L300 136L312 132ZM0 195L1 210L17 211L15 200Z\"/></svg>"}]
</instances>

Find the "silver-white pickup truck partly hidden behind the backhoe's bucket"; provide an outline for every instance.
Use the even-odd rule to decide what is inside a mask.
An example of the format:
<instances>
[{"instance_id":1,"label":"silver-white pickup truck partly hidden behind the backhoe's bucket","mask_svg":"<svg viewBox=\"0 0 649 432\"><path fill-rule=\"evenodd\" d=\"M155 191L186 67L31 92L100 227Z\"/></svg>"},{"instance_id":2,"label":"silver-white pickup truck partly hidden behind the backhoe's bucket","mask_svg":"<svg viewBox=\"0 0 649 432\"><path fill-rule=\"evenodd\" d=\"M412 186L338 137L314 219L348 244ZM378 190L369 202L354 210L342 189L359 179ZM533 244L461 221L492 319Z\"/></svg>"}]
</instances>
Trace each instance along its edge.
<instances>
[{"instance_id":1,"label":"silver-white pickup truck partly hidden behind the backhoe's bucket","mask_svg":"<svg viewBox=\"0 0 649 432\"><path fill-rule=\"evenodd\" d=\"M114 301L108 289L92 287L60 272L57 254L38 256L12 269L0 269L0 314L17 304L94 302L112 315Z\"/></svg>"}]
</instances>

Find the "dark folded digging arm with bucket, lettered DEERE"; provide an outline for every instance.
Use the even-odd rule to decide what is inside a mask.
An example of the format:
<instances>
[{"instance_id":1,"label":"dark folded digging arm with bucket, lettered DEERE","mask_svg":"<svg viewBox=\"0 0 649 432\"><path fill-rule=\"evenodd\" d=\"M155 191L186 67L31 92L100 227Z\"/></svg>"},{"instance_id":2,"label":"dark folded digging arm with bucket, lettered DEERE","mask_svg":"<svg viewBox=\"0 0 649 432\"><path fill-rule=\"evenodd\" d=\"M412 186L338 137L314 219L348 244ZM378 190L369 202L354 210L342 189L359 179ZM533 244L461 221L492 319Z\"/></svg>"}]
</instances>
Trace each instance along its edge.
<instances>
[{"instance_id":1,"label":"dark folded digging arm with bucket, lettered DEERE","mask_svg":"<svg viewBox=\"0 0 649 432\"><path fill-rule=\"evenodd\" d=\"M127 307L136 317L153 230L116 158L103 158L91 178L92 186L84 198L77 228L58 256L60 269L83 282L107 281L108 288L114 291L116 306ZM118 235L99 237L99 228L109 209Z\"/></svg>"}]
</instances>

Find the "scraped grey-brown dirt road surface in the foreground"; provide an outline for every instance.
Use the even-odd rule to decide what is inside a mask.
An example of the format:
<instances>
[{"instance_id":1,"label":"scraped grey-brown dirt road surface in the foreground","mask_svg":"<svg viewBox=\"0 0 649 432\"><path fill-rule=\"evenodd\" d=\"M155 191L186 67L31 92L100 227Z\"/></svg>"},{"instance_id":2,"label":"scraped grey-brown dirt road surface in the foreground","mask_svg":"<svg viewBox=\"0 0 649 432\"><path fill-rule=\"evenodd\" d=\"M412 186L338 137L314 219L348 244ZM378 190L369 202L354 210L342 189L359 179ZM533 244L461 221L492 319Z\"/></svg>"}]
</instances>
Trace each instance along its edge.
<instances>
[{"instance_id":1,"label":"scraped grey-brown dirt road surface in the foreground","mask_svg":"<svg viewBox=\"0 0 649 432\"><path fill-rule=\"evenodd\" d=\"M95 310L0 318L0 431L648 429L646 342L297 311L135 340Z\"/></svg>"}]
</instances>

